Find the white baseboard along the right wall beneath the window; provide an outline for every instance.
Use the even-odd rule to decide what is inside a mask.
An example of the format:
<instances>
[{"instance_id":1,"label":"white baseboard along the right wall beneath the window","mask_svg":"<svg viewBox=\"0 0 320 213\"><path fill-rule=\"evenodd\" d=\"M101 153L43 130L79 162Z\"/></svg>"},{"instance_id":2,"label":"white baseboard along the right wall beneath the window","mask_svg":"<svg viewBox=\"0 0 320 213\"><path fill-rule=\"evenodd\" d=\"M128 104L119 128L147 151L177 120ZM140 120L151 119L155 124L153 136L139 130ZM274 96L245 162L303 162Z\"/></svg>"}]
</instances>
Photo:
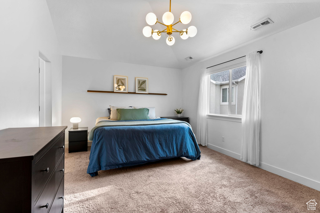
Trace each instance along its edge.
<instances>
[{"instance_id":1,"label":"white baseboard along the right wall beneath the window","mask_svg":"<svg viewBox=\"0 0 320 213\"><path fill-rule=\"evenodd\" d=\"M225 154L225 155L228 155L228 156L230 156L232 158L236 158L237 160L240 160L240 155L235 153L235 152L228 151L226 149L220 148L220 147L212 145L212 144L208 144L207 147L212 149L212 150L214 150L214 151L220 152L222 154ZM280 169L278 167L275 167L275 166L272 166L272 165L268 165L268 164L262 163L262 162L260 162L260 165L258 167L263 169L263 170L266 170L268 172L277 174L277 175L282 176L284 178L287 178L289 180L293 180L293 181L295 181L297 183L300 183L302 185L305 185L307 187L310 187L310 188L313 188L313 189L316 189L316 190L320 191L320 182L318 182L316 180L311 180L309 178L306 178L306 177L303 177L303 176L288 172L286 170L283 170L283 169Z\"/></svg>"}]
</instances>

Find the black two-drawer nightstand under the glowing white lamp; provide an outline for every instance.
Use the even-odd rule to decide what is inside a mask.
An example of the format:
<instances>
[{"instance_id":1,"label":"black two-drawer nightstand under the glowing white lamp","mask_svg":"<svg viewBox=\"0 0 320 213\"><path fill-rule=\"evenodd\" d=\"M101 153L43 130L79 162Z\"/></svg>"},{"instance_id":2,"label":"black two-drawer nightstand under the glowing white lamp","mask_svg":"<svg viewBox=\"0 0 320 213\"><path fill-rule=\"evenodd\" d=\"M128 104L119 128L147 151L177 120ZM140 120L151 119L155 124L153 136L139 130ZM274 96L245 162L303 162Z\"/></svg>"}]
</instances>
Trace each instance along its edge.
<instances>
[{"instance_id":1,"label":"black two-drawer nightstand under the glowing white lamp","mask_svg":"<svg viewBox=\"0 0 320 213\"><path fill-rule=\"evenodd\" d=\"M69 153L88 151L88 127L69 129Z\"/></svg>"}]
</instances>

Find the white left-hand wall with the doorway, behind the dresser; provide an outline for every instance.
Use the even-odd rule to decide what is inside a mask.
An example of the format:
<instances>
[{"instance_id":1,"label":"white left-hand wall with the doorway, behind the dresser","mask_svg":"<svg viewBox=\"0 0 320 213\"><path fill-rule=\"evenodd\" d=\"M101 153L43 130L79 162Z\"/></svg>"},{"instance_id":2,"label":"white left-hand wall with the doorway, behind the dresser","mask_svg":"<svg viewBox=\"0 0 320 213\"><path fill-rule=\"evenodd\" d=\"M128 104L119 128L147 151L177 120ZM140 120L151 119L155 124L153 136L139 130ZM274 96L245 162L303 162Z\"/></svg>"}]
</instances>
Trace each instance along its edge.
<instances>
[{"instance_id":1,"label":"white left-hand wall with the doorway, behind the dresser","mask_svg":"<svg viewBox=\"0 0 320 213\"><path fill-rule=\"evenodd\" d=\"M61 125L61 54L46 1L1 1L0 20L0 129L39 126L39 51L51 61L52 125Z\"/></svg>"}]
</instances>

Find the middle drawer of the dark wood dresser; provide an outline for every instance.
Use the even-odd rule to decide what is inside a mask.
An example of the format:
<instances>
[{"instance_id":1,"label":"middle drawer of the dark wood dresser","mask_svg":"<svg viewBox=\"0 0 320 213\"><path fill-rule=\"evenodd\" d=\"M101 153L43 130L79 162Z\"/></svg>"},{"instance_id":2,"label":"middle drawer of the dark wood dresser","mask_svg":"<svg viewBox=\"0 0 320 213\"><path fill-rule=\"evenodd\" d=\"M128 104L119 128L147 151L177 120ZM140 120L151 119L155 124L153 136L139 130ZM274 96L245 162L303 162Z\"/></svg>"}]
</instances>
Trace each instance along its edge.
<instances>
[{"instance_id":1,"label":"middle drawer of the dark wood dresser","mask_svg":"<svg viewBox=\"0 0 320 213\"><path fill-rule=\"evenodd\" d=\"M60 159L59 164L57 165L56 169L53 171L53 174L50 180L48 181L47 185L44 187L43 192L41 193L38 201L36 202L35 208L34 208L35 213L48 212L63 177L64 177L64 156L62 156L62 158ZM46 206L48 206L48 208Z\"/></svg>"}]
</instances>

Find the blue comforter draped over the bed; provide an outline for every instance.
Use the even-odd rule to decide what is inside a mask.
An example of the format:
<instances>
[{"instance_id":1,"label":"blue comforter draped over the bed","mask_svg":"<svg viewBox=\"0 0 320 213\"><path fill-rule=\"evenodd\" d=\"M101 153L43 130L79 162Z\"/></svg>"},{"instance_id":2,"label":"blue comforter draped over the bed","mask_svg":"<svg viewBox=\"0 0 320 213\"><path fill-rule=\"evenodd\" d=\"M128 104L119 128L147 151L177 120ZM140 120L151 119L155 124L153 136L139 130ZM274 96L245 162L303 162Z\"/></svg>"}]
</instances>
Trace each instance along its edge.
<instances>
[{"instance_id":1,"label":"blue comforter draped over the bed","mask_svg":"<svg viewBox=\"0 0 320 213\"><path fill-rule=\"evenodd\" d=\"M98 175L100 170L161 159L200 159L195 135L186 122L175 123L171 119L138 120L137 125L128 126L121 121L101 122L107 123L107 126L99 126L98 123L90 133L93 134L93 140L87 173L92 177Z\"/></svg>"}]
</instances>

